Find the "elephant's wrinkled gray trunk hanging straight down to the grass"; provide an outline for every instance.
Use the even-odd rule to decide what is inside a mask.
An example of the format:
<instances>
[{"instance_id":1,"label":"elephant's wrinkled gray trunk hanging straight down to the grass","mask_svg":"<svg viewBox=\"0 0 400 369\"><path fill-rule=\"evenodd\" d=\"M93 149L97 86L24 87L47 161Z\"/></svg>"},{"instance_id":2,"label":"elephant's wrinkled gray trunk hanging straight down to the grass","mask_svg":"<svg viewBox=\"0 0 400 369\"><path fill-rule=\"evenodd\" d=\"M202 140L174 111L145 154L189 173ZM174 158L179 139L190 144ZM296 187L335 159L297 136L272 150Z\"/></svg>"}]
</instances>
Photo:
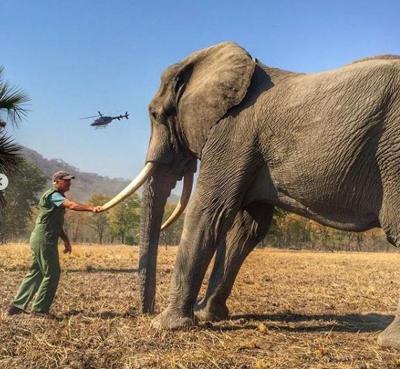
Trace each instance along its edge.
<instances>
[{"instance_id":1,"label":"elephant's wrinkled gray trunk hanging straight down to the grass","mask_svg":"<svg viewBox=\"0 0 400 369\"><path fill-rule=\"evenodd\" d=\"M139 248L139 291L142 313L153 313L155 304L155 271L159 232L164 207L176 178L159 166L144 184L142 196L140 248Z\"/></svg>"}]
</instances>

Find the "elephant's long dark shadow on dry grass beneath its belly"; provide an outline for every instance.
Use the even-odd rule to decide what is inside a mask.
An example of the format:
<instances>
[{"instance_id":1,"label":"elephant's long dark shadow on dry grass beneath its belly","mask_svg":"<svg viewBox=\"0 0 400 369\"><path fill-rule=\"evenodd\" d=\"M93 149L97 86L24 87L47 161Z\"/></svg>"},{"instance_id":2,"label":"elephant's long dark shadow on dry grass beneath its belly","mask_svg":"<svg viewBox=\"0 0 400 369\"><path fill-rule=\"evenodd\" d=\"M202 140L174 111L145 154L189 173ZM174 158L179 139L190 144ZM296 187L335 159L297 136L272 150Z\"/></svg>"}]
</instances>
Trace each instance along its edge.
<instances>
[{"instance_id":1,"label":"elephant's long dark shadow on dry grass beneath its belly","mask_svg":"<svg viewBox=\"0 0 400 369\"><path fill-rule=\"evenodd\" d=\"M388 327L393 319L392 315L374 313L345 315L246 314L231 316L229 320L221 322L221 326L215 325L211 329L257 329L259 324L263 323L266 329L284 332L379 332Z\"/></svg>"}]
</instances>

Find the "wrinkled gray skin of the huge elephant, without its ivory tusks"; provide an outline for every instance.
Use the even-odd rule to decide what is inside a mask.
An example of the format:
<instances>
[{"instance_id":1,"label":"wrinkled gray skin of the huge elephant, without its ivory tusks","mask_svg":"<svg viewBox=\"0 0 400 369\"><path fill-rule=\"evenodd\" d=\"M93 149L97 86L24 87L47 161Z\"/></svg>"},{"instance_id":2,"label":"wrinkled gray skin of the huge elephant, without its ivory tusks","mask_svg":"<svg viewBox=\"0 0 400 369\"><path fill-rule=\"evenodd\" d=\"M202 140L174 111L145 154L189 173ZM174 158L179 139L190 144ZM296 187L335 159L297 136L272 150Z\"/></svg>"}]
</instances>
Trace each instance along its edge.
<instances>
[{"instance_id":1,"label":"wrinkled gray skin of the huge elephant, without its ivory tusks","mask_svg":"<svg viewBox=\"0 0 400 369\"><path fill-rule=\"evenodd\" d=\"M234 43L193 53L162 76L151 101L139 266L143 311L153 311L166 198L195 171L168 307L153 326L225 318L245 257L275 206L333 228L381 227L400 246L400 57L358 60L319 74L264 66ZM195 305L211 257L205 298ZM400 347L399 318L379 337Z\"/></svg>"}]
</instances>

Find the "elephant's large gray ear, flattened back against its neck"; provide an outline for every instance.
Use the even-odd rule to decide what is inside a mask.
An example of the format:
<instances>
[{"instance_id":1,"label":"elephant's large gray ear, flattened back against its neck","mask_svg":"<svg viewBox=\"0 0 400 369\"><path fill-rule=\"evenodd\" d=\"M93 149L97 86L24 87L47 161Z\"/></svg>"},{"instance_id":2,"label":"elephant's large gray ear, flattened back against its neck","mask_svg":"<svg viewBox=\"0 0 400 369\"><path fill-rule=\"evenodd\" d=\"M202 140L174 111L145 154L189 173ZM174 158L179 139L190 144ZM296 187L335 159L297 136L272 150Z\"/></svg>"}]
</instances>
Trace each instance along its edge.
<instances>
[{"instance_id":1,"label":"elephant's large gray ear, flattened back against its neck","mask_svg":"<svg viewBox=\"0 0 400 369\"><path fill-rule=\"evenodd\" d=\"M211 127L245 97L255 62L238 44L224 42L182 65L175 82L178 116L189 149L200 157Z\"/></svg>"}]
</instances>

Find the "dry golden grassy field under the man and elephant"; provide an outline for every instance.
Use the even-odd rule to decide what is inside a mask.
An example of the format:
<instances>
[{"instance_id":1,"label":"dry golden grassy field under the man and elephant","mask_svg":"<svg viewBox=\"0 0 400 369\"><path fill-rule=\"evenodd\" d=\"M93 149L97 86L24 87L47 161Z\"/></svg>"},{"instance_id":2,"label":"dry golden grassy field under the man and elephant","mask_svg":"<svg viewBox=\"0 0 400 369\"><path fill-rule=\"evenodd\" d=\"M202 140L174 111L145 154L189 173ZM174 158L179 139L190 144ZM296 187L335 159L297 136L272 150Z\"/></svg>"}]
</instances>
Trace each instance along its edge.
<instances>
[{"instance_id":1,"label":"dry golden grassy field under the man and elephant","mask_svg":"<svg viewBox=\"0 0 400 369\"><path fill-rule=\"evenodd\" d=\"M157 311L176 248L160 248ZM8 317L29 246L0 246L0 368L400 368L376 338L400 297L400 254L254 250L232 317L155 332L138 313L138 250L75 246L62 255L57 320ZM205 284L203 284L203 291Z\"/></svg>"}]
</instances>

